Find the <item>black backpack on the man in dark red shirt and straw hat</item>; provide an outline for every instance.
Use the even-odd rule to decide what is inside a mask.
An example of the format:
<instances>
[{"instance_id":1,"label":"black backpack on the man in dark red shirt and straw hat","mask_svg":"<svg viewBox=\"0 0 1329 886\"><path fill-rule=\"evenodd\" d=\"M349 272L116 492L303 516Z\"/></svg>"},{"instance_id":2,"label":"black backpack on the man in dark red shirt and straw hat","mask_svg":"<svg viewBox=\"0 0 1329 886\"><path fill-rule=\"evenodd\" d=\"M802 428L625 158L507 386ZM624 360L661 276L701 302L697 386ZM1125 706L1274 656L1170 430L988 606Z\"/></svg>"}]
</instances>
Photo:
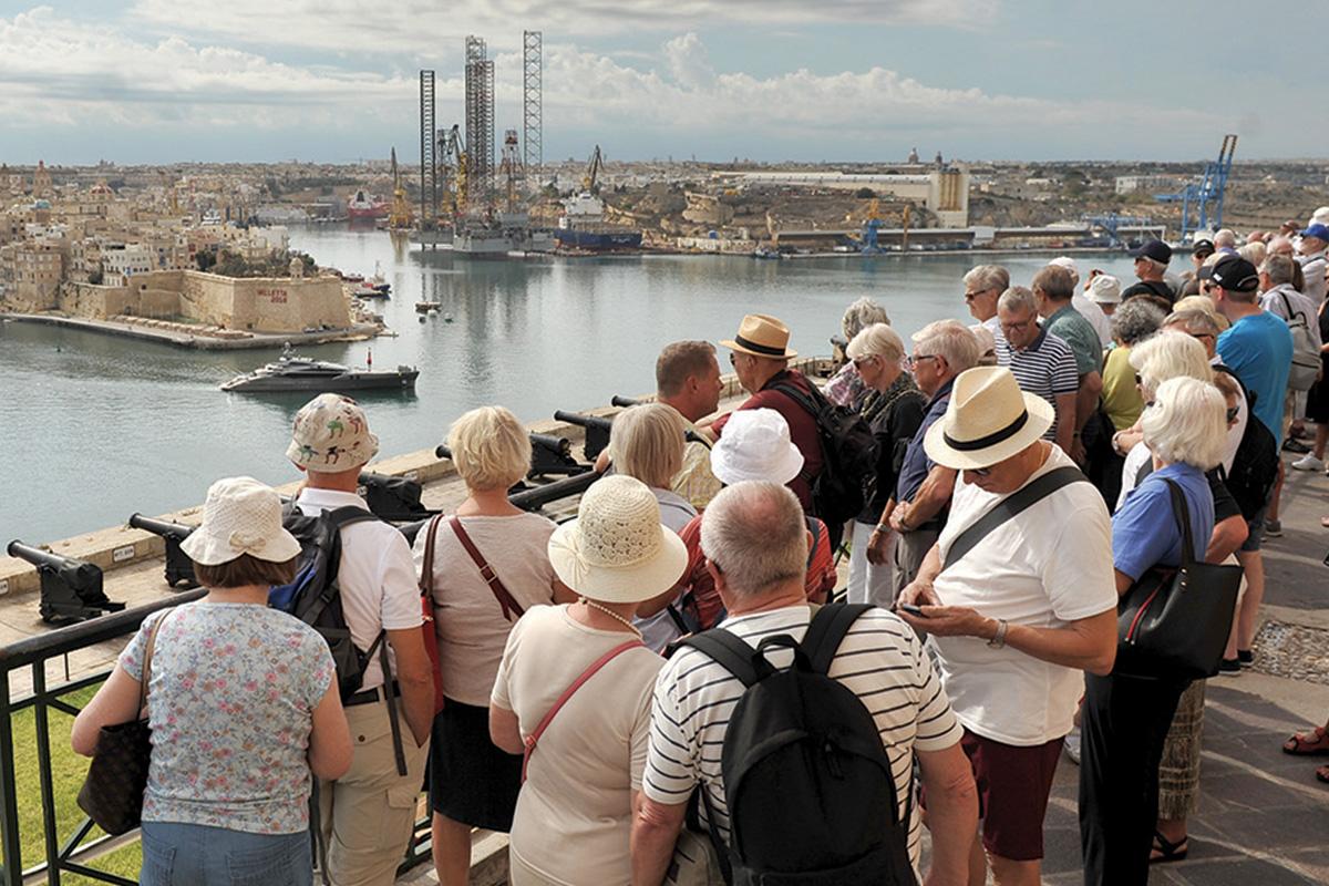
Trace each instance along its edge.
<instances>
[{"instance_id":1,"label":"black backpack on the man in dark red shirt and straw hat","mask_svg":"<svg viewBox=\"0 0 1329 886\"><path fill-rule=\"evenodd\" d=\"M777 384L779 391L807 410L817 422L821 442L821 473L800 474L812 485L812 510L839 542L837 530L863 513L877 477L877 438L872 428L853 409L837 406L811 385L812 396L791 384Z\"/></svg>"}]
</instances>

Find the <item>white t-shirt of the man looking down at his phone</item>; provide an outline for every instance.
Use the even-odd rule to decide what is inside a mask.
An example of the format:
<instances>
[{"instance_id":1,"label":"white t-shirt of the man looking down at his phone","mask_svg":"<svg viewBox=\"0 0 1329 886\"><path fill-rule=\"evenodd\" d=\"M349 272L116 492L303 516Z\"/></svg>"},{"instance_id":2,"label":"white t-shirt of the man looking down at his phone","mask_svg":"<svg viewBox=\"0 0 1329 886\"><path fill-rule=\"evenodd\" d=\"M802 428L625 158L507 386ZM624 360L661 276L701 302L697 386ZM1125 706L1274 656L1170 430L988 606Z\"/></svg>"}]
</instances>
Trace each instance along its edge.
<instances>
[{"instance_id":1,"label":"white t-shirt of the man looking down at his phone","mask_svg":"<svg viewBox=\"0 0 1329 886\"><path fill-rule=\"evenodd\" d=\"M1030 480L1074 462L1051 446ZM1005 495L956 484L941 531L941 561L954 538ZM945 606L968 606L1011 624L1059 628L1116 608L1112 527L1103 497L1071 484L1002 523L933 583ZM1082 671L1042 662L973 636L930 636L956 716L970 732L1002 744L1033 747L1071 731L1084 688Z\"/></svg>"}]
</instances>

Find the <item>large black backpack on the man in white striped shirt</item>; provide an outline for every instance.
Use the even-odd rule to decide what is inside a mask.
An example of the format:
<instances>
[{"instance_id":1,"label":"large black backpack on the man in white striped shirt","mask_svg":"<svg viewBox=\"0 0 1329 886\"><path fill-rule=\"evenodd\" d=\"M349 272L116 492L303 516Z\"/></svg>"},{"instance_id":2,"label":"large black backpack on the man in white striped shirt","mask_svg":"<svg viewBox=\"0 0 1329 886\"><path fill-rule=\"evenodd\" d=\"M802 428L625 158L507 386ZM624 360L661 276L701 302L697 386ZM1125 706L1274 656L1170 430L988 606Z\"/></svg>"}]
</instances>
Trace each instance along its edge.
<instances>
[{"instance_id":1,"label":"large black backpack on the man in white striped shirt","mask_svg":"<svg viewBox=\"0 0 1329 886\"><path fill-rule=\"evenodd\" d=\"M788 634L754 650L724 628L682 642L738 677L746 691L730 716L720 754L730 843L711 841L735 886L916 883L909 814L900 818L890 760L877 725L848 687L827 676L840 642L867 604L823 606L803 643ZM776 669L769 648L792 648Z\"/></svg>"}]
</instances>

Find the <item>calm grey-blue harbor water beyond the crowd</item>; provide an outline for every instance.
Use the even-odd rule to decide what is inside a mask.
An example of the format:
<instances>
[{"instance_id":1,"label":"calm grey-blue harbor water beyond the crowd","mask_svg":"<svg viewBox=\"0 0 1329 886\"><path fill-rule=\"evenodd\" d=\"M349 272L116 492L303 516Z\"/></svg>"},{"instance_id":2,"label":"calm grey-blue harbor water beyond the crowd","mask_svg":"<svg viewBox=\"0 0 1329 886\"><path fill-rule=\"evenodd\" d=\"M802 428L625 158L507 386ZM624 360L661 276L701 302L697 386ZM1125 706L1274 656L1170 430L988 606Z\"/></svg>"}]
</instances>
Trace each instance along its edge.
<instances>
[{"instance_id":1,"label":"calm grey-blue harbor water beyond the crowd","mask_svg":"<svg viewBox=\"0 0 1329 886\"><path fill-rule=\"evenodd\" d=\"M460 413L502 404L524 420L607 405L655 385L655 355L678 339L731 336L748 312L773 313L792 347L829 353L847 304L868 295L908 333L971 321L961 276L999 262L1027 283L1046 255L968 254L755 260L606 256L476 262L423 252L381 231L292 230L319 264L373 274L396 337L302 348L304 356L420 368L413 393L361 393L383 454L433 446ZM1083 255L1131 282L1124 255ZM415 303L441 303L420 321ZM445 317L451 316L452 321ZM284 448L308 395L223 393L218 385L279 351L203 352L56 327L0 324L0 543L49 542L198 503L218 477L298 478ZM722 367L728 371L724 355Z\"/></svg>"}]
</instances>

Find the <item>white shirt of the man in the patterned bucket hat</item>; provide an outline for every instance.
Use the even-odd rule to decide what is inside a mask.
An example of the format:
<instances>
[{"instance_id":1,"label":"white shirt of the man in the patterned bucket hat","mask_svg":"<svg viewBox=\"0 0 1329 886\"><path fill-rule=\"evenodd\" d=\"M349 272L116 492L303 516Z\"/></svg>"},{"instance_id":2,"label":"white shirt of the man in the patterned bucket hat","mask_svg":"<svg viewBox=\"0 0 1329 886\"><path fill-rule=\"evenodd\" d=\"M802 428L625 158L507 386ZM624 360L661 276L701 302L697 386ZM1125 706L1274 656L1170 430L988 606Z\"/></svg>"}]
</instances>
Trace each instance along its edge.
<instances>
[{"instance_id":1,"label":"white shirt of the man in the patterned bucket hat","mask_svg":"<svg viewBox=\"0 0 1329 886\"><path fill-rule=\"evenodd\" d=\"M300 513L310 517L338 507L369 510L355 493L332 489L304 489L295 499ZM342 614L351 628L351 640L360 650L373 646L380 631L403 631L420 627L420 586L416 583L411 547L405 537L391 523L365 521L342 530L342 563L338 567L342 587ZM396 673L397 662L388 648L388 663ZM383 685L379 654L364 668L360 688Z\"/></svg>"}]
</instances>

